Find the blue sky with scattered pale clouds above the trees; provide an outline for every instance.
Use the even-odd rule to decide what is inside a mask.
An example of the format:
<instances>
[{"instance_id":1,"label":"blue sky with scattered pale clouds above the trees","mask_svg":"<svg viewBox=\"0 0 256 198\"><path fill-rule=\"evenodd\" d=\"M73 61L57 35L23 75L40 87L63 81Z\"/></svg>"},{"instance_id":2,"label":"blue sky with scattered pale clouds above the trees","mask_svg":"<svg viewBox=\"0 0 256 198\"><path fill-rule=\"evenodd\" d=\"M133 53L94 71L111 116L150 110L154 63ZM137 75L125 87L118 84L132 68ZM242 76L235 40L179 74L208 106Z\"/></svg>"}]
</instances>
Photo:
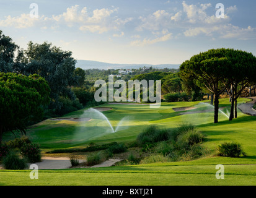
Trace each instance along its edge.
<instances>
[{"instance_id":1,"label":"blue sky with scattered pale clouds above the trees","mask_svg":"<svg viewBox=\"0 0 256 198\"><path fill-rule=\"evenodd\" d=\"M76 59L181 64L212 48L256 55L255 10L252 0L0 0L0 30L20 48L48 41Z\"/></svg>"}]
</instances>

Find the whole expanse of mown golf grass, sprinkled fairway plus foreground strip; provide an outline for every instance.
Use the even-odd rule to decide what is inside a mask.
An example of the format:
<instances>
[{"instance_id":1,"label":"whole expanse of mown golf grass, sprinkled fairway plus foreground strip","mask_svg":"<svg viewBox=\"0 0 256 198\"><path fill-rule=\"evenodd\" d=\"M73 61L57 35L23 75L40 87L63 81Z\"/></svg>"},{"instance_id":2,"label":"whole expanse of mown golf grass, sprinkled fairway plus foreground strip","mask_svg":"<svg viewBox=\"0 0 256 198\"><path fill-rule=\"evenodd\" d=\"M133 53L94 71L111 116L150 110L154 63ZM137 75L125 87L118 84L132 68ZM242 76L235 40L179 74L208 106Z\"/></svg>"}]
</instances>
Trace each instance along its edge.
<instances>
[{"instance_id":1,"label":"whole expanse of mown golf grass, sprinkled fairway plus foreground strip","mask_svg":"<svg viewBox=\"0 0 256 198\"><path fill-rule=\"evenodd\" d=\"M243 103L247 99L239 99ZM33 142L43 149L61 149L84 147L89 142L104 144L108 142L131 142L143 129L151 124L162 128L173 128L182 123L195 124L204 136L202 146L212 153L223 142L239 142L247 157L228 158L209 157L193 161L154 163L148 165L113 166L106 168L86 168L83 170L40 170L39 179L30 179L30 171L0 170L0 185L255 185L256 184L256 117L242 114L228 121L219 113L219 123L213 123L213 112L183 114L172 108L197 106L200 102L162 103L158 109L146 105L102 105L112 110L103 113L112 123L114 129L118 122L128 116L122 123L120 131L108 130L105 123L92 120L84 126L72 121L46 120L36 124L28 131ZM221 99L219 103L224 113L228 114L229 101ZM200 106L196 110L208 110L210 106ZM75 111L65 117L79 117L84 110ZM86 129L79 131L79 129ZM5 134L4 140L12 138ZM225 178L216 179L215 166L224 165Z\"/></svg>"}]
</instances>

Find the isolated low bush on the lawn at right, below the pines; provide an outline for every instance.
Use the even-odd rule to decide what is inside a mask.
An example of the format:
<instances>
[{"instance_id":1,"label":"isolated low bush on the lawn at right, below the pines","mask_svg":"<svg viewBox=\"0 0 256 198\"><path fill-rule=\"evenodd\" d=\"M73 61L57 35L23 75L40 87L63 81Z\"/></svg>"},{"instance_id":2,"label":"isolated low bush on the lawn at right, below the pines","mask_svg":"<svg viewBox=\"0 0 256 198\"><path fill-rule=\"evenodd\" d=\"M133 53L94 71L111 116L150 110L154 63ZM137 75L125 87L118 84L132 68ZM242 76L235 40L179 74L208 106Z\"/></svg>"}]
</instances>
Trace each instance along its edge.
<instances>
[{"instance_id":1,"label":"isolated low bush on the lawn at right, below the pines","mask_svg":"<svg viewBox=\"0 0 256 198\"><path fill-rule=\"evenodd\" d=\"M218 146L218 155L223 157L240 157L246 156L246 153L242 149L241 144L236 142L224 142Z\"/></svg>"}]
</instances>

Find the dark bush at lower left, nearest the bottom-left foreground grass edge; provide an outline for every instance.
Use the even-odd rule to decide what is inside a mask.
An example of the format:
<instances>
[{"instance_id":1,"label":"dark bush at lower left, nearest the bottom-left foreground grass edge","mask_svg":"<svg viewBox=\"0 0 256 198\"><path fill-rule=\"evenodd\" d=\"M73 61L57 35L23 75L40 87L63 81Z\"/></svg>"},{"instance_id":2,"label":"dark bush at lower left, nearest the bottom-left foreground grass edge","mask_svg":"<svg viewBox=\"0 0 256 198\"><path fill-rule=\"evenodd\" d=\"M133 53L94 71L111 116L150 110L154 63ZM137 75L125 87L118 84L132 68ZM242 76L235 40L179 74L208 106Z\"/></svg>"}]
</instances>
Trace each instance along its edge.
<instances>
[{"instance_id":1,"label":"dark bush at lower left, nearest the bottom-left foreground grass edge","mask_svg":"<svg viewBox=\"0 0 256 198\"><path fill-rule=\"evenodd\" d=\"M2 163L7 170L23 170L27 167L26 161L19 158L14 152L9 152L6 157L3 158Z\"/></svg>"}]
</instances>

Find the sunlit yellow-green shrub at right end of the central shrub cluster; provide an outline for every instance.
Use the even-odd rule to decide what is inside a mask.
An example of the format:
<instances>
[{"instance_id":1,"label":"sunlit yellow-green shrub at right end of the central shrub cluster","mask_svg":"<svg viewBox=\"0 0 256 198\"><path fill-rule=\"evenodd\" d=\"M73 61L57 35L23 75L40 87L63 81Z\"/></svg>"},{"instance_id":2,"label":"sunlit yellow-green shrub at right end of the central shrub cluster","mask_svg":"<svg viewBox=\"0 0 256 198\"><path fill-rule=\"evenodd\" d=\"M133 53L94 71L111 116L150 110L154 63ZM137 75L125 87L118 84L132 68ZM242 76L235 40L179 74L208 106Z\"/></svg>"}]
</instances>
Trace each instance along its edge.
<instances>
[{"instance_id":1,"label":"sunlit yellow-green shrub at right end of the central shrub cluster","mask_svg":"<svg viewBox=\"0 0 256 198\"><path fill-rule=\"evenodd\" d=\"M189 130L180 134L180 136L177 137L177 141L188 145L198 144L203 141L203 134L196 129Z\"/></svg>"}]
</instances>

